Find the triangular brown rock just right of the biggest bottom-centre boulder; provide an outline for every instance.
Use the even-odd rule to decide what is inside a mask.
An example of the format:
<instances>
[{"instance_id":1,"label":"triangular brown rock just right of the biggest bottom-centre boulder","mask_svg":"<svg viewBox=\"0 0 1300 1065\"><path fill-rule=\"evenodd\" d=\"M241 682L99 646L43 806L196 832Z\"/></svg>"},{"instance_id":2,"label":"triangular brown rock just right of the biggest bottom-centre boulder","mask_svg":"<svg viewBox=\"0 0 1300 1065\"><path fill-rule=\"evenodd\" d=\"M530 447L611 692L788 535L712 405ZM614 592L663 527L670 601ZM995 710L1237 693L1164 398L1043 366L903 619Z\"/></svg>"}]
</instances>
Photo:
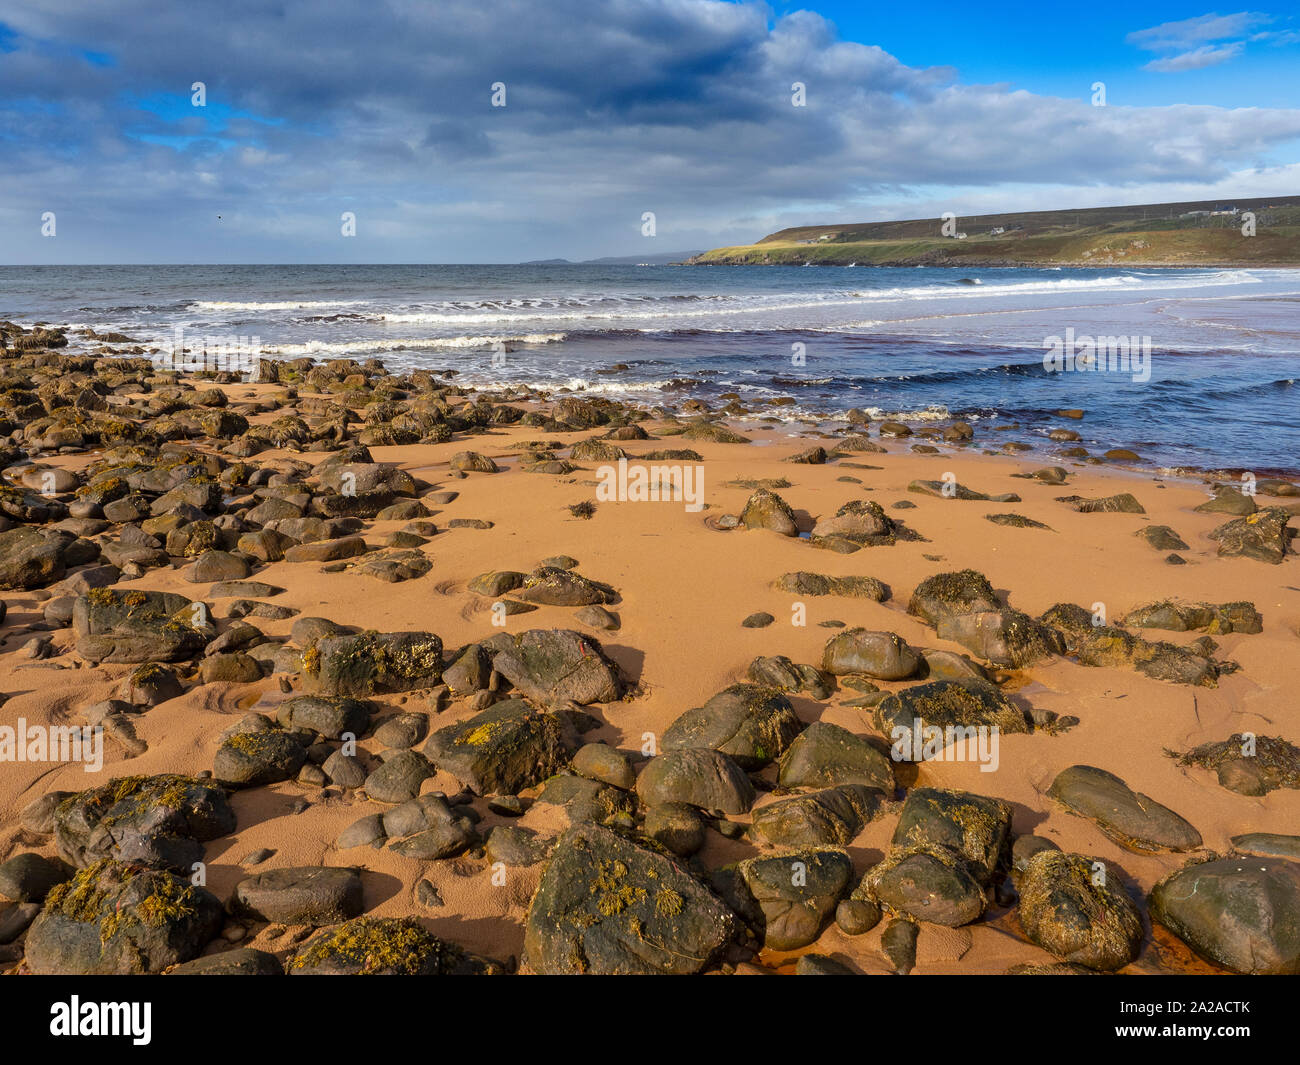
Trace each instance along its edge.
<instances>
[{"instance_id":1,"label":"triangular brown rock just right of the biggest bottom-centre boulder","mask_svg":"<svg viewBox=\"0 0 1300 1065\"><path fill-rule=\"evenodd\" d=\"M771 951L797 951L831 922L853 876L853 862L837 849L797 850L746 858L715 876L724 897L763 936Z\"/></svg>"}]
</instances>

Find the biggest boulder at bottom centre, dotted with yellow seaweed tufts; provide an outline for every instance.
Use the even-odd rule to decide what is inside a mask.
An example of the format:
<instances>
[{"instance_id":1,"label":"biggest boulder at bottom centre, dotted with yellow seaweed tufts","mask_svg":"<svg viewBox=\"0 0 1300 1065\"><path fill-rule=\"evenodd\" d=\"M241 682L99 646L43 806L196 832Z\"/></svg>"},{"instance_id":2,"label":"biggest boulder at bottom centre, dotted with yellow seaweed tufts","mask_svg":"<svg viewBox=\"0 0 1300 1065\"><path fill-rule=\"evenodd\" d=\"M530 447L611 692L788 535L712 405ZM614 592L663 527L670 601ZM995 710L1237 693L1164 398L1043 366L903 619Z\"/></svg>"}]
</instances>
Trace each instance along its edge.
<instances>
[{"instance_id":1,"label":"biggest boulder at bottom centre, dotted with yellow seaweed tufts","mask_svg":"<svg viewBox=\"0 0 1300 1065\"><path fill-rule=\"evenodd\" d=\"M560 836L524 926L543 975L688 974L716 961L734 915L675 862L595 824Z\"/></svg>"}]
</instances>

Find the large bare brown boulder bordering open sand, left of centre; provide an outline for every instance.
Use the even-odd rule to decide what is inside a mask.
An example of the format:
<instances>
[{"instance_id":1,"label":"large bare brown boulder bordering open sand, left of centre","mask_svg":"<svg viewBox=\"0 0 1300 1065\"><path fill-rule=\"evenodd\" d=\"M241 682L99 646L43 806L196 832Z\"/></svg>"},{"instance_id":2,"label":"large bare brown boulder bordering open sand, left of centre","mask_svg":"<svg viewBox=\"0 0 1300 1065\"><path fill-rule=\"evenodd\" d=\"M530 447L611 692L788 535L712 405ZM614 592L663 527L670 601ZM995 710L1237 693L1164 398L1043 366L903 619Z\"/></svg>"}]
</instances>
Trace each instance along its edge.
<instances>
[{"instance_id":1,"label":"large bare brown boulder bordering open sand, left of centre","mask_svg":"<svg viewBox=\"0 0 1300 1065\"><path fill-rule=\"evenodd\" d=\"M498 633L484 641L493 668L524 698L541 705L614 702L621 694L618 667L590 636L572 629Z\"/></svg>"}]
</instances>

